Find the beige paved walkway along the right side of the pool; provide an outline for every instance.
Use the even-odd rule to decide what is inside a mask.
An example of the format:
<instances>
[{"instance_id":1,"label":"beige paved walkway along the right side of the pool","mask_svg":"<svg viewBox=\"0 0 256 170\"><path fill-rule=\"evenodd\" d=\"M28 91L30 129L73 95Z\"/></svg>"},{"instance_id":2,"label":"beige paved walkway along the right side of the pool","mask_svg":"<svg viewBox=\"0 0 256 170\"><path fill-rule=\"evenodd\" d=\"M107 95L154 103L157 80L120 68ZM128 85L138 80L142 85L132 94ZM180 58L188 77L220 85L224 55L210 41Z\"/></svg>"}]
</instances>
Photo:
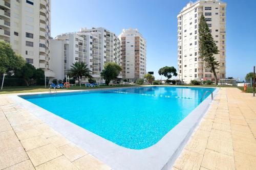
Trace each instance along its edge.
<instances>
[{"instance_id":1,"label":"beige paved walkway along the right side of the pool","mask_svg":"<svg viewBox=\"0 0 256 170\"><path fill-rule=\"evenodd\" d=\"M173 169L256 169L256 97L221 88Z\"/></svg>"}]
</instances>

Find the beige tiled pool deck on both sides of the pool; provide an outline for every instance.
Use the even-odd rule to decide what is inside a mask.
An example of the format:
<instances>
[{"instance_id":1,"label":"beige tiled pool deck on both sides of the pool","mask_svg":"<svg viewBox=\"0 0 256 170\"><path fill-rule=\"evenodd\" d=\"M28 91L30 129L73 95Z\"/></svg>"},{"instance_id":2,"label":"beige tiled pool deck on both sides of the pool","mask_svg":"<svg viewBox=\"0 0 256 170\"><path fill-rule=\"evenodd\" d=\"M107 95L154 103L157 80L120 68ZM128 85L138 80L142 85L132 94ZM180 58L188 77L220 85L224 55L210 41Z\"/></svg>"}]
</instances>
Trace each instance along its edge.
<instances>
[{"instance_id":1,"label":"beige tiled pool deck on both sides of the pool","mask_svg":"<svg viewBox=\"0 0 256 170\"><path fill-rule=\"evenodd\" d=\"M173 169L255 169L256 98L221 88ZM161 159L161 158L159 158ZM111 169L0 95L0 169Z\"/></svg>"}]
</instances>

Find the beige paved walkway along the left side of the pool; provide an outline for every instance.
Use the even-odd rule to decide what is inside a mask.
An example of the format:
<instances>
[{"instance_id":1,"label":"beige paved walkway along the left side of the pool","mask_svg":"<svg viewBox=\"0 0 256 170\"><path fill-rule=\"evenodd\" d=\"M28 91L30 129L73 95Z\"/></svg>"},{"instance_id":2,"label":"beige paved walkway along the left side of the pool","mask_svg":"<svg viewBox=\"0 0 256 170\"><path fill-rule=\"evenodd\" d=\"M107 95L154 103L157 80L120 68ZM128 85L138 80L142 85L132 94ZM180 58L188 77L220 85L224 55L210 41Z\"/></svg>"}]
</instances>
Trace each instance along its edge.
<instances>
[{"instance_id":1,"label":"beige paved walkway along the left side of the pool","mask_svg":"<svg viewBox=\"0 0 256 170\"><path fill-rule=\"evenodd\" d=\"M0 169L111 168L0 95Z\"/></svg>"}]
</instances>

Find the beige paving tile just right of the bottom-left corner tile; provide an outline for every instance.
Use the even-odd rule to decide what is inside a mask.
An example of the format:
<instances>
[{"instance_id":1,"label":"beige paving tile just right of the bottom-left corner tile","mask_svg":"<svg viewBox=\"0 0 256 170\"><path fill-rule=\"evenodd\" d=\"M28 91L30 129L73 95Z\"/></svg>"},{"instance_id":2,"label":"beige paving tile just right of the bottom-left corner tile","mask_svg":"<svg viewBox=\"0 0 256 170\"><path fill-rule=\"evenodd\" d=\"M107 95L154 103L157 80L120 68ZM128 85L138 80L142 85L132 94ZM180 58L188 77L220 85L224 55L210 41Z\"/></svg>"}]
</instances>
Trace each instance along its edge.
<instances>
[{"instance_id":1,"label":"beige paving tile just right of the bottom-left corner tile","mask_svg":"<svg viewBox=\"0 0 256 170\"><path fill-rule=\"evenodd\" d=\"M62 155L53 144L47 144L30 150L27 154L34 166L38 166Z\"/></svg>"}]
</instances>

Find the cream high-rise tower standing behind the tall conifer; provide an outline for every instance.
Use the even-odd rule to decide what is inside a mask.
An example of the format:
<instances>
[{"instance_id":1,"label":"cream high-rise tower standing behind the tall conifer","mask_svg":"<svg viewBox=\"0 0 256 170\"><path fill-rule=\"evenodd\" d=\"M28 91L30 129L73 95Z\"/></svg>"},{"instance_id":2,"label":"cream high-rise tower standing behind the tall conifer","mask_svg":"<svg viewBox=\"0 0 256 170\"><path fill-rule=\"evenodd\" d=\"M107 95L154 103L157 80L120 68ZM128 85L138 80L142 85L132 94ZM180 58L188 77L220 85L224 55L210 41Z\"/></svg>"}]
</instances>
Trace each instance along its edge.
<instances>
[{"instance_id":1,"label":"cream high-rise tower standing behind the tall conifer","mask_svg":"<svg viewBox=\"0 0 256 170\"><path fill-rule=\"evenodd\" d=\"M178 77L185 83L191 80L214 80L198 56L198 25L201 15L205 16L212 37L218 46L219 54L214 55L220 62L218 79L226 77L226 3L220 0L189 2L178 18Z\"/></svg>"}]
</instances>

